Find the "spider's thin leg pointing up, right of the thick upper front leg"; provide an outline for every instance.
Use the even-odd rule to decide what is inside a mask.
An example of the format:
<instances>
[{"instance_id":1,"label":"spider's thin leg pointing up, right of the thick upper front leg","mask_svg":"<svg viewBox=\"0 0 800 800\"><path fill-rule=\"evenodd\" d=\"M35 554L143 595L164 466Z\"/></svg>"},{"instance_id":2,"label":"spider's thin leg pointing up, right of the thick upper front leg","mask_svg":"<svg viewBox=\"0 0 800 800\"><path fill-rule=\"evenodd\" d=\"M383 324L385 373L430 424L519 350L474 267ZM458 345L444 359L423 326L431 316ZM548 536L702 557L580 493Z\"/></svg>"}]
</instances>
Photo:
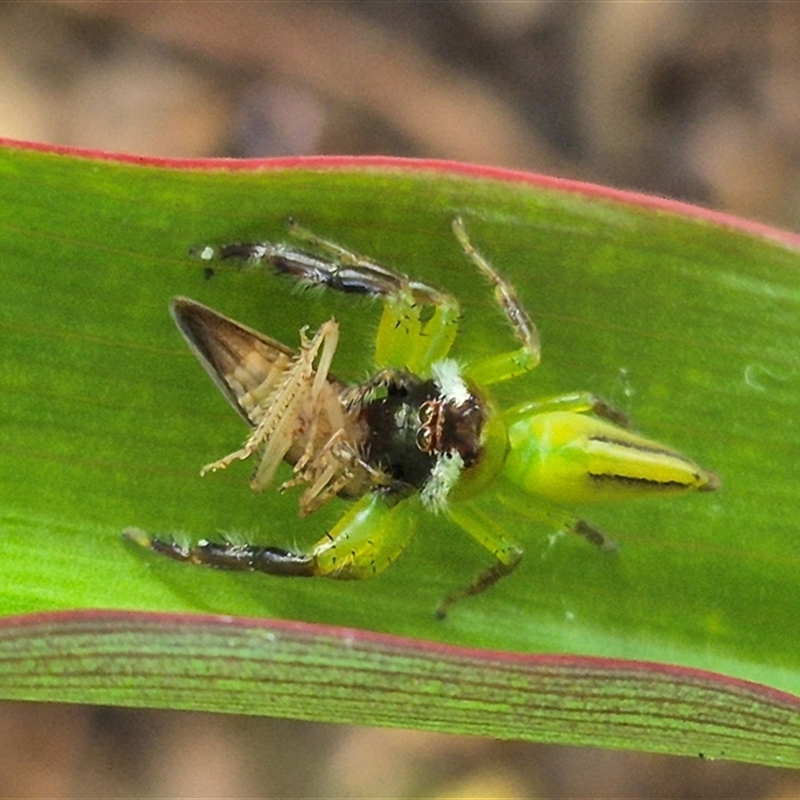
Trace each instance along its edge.
<instances>
[{"instance_id":1,"label":"spider's thin leg pointing up, right of the thick upper front leg","mask_svg":"<svg viewBox=\"0 0 800 800\"><path fill-rule=\"evenodd\" d=\"M468 365L465 369L466 376L478 385L487 386L529 372L538 366L541 359L541 346L536 325L517 297L514 287L474 247L461 217L453 220L453 233L466 256L494 287L495 300L511 323L514 335L522 345L513 352L500 353Z\"/></svg>"}]
</instances>

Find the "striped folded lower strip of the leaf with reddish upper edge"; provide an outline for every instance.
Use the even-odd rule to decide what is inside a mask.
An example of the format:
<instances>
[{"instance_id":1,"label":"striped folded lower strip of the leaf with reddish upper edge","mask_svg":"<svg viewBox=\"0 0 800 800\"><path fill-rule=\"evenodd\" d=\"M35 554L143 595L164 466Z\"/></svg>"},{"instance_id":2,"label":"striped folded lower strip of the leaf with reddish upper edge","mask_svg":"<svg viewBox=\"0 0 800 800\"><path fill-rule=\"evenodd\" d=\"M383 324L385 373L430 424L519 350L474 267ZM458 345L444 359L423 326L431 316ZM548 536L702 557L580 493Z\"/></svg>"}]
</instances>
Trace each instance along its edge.
<instances>
[{"instance_id":1,"label":"striped folded lower strip of the leaf with reddish upper edge","mask_svg":"<svg viewBox=\"0 0 800 800\"><path fill-rule=\"evenodd\" d=\"M14 699L151 707L169 696L184 710L800 765L797 698L697 670L275 620L84 612L19 622L0 622L0 685Z\"/></svg>"}]
</instances>

